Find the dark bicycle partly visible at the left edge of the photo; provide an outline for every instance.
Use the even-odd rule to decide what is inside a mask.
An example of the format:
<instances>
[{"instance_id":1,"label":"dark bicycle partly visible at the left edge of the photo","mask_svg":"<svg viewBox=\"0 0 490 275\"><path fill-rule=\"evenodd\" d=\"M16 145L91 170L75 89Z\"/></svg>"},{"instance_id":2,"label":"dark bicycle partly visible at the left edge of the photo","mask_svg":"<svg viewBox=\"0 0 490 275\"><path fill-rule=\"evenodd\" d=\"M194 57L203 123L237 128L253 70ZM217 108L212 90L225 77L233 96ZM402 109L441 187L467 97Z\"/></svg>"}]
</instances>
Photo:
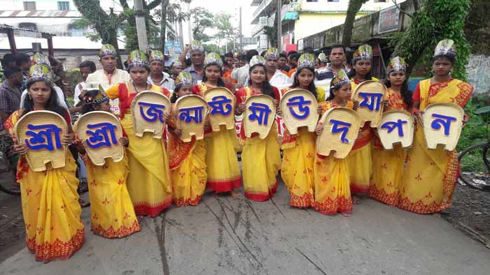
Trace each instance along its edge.
<instances>
[{"instance_id":1,"label":"dark bicycle partly visible at the left edge of the photo","mask_svg":"<svg viewBox=\"0 0 490 275\"><path fill-rule=\"evenodd\" d=\"M20 185L15 181L18 154L12 151L13 140L8 134L0 134L0 191L20 195Z\"/></svg>"}]
</instances>

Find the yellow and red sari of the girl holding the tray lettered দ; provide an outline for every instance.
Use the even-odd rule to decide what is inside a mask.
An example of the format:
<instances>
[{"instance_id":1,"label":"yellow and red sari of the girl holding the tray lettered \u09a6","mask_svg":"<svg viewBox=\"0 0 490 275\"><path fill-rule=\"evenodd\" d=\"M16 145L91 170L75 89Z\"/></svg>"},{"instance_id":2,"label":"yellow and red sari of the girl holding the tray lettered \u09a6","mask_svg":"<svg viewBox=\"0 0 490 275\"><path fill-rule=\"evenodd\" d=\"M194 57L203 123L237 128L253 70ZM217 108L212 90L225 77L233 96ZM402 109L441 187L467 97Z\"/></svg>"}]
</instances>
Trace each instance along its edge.
<instances>
[{"instance_id":1,"label":"yellow and red sari of the girl holding the tray lettered \u09a6","mask_svg":"<svg viewBox=\"0 0 490 275\"><path fill-rule=\"evenodd\" d=\"M337 107L331 101L320 103L323 112ZM346 107L352 109L353 102ZM349 167L346 159L333 155L314 157L314 209L321 214L351 214L352 198L349 186Z\"/></svg>"}]
</instances>

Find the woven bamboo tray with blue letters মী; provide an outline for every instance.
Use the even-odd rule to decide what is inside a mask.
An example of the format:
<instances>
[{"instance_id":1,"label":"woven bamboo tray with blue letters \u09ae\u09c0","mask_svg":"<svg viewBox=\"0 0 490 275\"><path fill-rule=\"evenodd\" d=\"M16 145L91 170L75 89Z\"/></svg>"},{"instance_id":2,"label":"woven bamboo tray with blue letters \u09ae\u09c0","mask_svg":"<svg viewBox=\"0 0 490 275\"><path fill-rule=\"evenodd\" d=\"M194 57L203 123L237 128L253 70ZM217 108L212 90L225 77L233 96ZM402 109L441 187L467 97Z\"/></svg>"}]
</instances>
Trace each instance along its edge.
<instances>
[{"instance_id":1,"label":"woven bamboo tray with blue letters \u09ae\u09c0","mask_svg":"<svg viewBox=\"0 0 490 275\"><path fill-rule=\"evenodd\" d=\"M251 137L253 133L258 133L260 139L265 139L269 135L275 117L276 107L272 97L259 94L247 98L244 112L245 136Z\"/></svg>"}]
</instances>

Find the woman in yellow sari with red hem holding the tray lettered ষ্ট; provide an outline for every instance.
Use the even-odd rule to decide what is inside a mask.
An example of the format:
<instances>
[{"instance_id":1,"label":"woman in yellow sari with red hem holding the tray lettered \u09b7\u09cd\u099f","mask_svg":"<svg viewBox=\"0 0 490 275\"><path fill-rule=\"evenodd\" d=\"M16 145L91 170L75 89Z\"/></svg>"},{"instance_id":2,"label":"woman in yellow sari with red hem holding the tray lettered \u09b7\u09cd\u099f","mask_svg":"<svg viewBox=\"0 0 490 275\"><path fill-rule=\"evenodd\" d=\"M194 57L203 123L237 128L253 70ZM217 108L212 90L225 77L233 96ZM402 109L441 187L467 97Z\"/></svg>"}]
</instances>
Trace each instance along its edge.
<instances>
[{"instance_id":1,"label":"woman in yellow sari with red hem holding the tray lettered \u09b7\u09cd\u099f","mask_svg":"<svg viewBox=\"0 0 490 275\"><path fill-rule=\"evenodd\" d=\"M194 94L204 96L204 92L214 87L226 87L221 79L223 61L221 57L211 52L204 59L204 76L202 82L193 87ZM226 87L228 88L228 87ZM206 143L207 186L216 193L230 192L237 196L234 190L241 186L241 172L237 158L238 137L235 129L211 131L205 129Z\"/></svg>"}]
</instances>

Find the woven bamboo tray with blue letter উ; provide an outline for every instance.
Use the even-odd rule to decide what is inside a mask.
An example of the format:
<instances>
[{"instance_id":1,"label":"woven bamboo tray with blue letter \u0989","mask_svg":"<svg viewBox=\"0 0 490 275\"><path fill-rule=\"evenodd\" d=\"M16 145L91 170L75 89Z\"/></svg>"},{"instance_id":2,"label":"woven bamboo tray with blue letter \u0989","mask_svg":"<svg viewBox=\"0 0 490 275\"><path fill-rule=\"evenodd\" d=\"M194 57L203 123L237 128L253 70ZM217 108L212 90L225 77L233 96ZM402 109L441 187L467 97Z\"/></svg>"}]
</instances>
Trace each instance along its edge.
<instances>
[{"instance_id":1,"label":"woven bamboo tray with blue letter \u0989","mask_svg":"<svg viewBox=\"0 0 490 275\"><path fill-rule=\"evenodd\" d=\"M292 89L281 98L282 118L289 133L297 134L297 128L308 127L314 132L318 122L318 101L310 91Z\"/></svg>"}]
</instances>

